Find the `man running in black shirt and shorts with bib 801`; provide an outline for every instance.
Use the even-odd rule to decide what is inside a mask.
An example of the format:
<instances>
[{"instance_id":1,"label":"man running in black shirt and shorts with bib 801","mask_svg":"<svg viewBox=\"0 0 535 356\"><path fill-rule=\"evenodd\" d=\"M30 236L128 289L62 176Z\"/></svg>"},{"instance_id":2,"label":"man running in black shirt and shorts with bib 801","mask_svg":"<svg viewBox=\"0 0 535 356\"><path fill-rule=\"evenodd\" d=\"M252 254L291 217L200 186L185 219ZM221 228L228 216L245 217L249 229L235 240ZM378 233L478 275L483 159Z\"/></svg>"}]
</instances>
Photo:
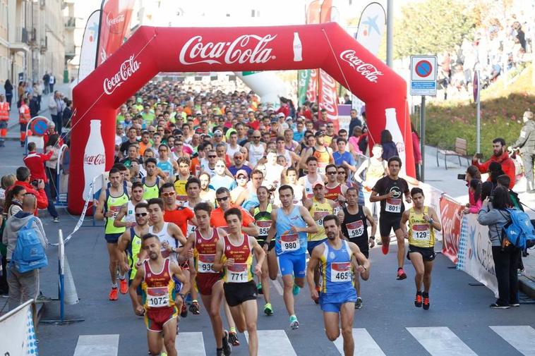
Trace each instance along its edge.
<instances>
[{"instance_id":1,"label":"man running in black shirt and shorts with bib 801","mask_svg":"<svg viewBox=\"0 0 535 356\"><path fill-rule=\"evenodd\" d=\"M403 270L405 241L400 226L402 214L403 211L405 211L402 195L405 195L405 200L408 203L411 202L409 184L407 184L407 180L399 178L398 176L401 166L402 161L398 156L393 156L388 159L389 173L375 183L370 197L370 202L380 202L381 204L379 233L383 243L383 254L388 253L390 231L394 229L394 233L396 234L398 265L396 279L398 281L407 278L407 274L405 274L405 271Z\"/></svg>"}]
</instances>

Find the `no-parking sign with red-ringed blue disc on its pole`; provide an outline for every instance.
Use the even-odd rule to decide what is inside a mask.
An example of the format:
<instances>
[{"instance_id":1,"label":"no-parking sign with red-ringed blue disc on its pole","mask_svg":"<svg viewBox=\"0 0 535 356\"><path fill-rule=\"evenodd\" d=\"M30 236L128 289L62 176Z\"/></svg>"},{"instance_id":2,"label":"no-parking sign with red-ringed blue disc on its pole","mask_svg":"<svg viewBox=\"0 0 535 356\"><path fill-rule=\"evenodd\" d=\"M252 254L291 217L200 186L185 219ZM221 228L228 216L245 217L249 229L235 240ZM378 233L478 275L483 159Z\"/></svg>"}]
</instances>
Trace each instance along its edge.
<instances>
[{"instance_id":1,"label":"no-parking sign with red-ringed blue disc on its pole","mask_svg":"<svg viewBox=\"0 0 535 356\"><path fill-rule=\"evenodd\" d=\"M420 145L421 170L420 180L424 179L424 160L426 151L426 95L435 97L437 92L437 57L411 56L411 95L421 96L420 110Z\"/></svg>"}]
</instances>

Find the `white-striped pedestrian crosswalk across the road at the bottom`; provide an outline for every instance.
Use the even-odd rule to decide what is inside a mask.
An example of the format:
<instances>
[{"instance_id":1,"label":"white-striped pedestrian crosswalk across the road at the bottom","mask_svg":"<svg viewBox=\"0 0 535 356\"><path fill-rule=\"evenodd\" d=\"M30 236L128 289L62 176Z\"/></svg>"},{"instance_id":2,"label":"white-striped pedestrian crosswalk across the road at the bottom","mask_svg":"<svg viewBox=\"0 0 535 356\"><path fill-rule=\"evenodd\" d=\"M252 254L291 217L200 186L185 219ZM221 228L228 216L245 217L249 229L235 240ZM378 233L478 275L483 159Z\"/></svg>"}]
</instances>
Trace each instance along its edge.
<instances>
[{"instance_id":1,"label":"white-striped pedestrian crosswalk across the road at the bottom","mask_svg":"<svg viewBox=\"0 0 535 356\"><path fill-rule=\"evenodd\" d=\"M520 355L533 356L535 355L535 329L531 326L489 326L489 332L500 336L498 342L508 343L512 348L515 348ZM464 343L458 335L456 335L450 328L446 326L437 327L410 327L406 328L409 334L416 339L416 341L428 352L431 356L478 356L474 350ZM353 329L353 337L355 340L354 355L367 356L385 356L394 355L393 350L383 350L380 338L374 339L366 329ZM299 353L299 345L292 344L291 334L287 334L284 330L259 330L258 340L258 356L300 356L310 355L310 352ZM248 335L246 334L248 341ZM406 338L399 338L396 341L401 350ZM318 335L311 338L311 343L318 343L321 349L327 349L330 346L325 345L329 343L325 335ZM212 343L212 334L206 331L202 332L180 332L176 337L176 349L179 355L187 356L205 356L211 355L211 352L206 352L205 342L207 345ZM383 346L384 347L384 346ZM242 350L243 349L243 350ZM319 349L318 349L319 350ZM333 353L328 355L335 355L338 351L339 355L344 355L344 347L342 336L334 342ZM337 350L337 351L336 351ZM246 355L247 343L242 343L239 350L236 350L236 355ZM421 350L413 350L421 352ZM233 352L234 355L235 352ZM78 336L78 343L73 356L118 356L122 355L119 352L119 335L80 335ZM319 354L318 354L319 355ZM479 353L480 356L486 355Z\"/></svg>"}]
</instances>

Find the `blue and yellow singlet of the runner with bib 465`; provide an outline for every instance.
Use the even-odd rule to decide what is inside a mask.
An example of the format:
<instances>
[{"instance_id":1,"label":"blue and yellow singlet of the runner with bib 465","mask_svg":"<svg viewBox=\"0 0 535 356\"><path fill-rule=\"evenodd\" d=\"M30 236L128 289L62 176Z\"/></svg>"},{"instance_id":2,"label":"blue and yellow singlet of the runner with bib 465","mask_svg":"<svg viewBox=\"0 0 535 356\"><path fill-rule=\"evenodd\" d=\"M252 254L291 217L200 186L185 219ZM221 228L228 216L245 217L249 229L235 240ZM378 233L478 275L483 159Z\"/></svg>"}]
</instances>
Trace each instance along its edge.
<instances>
[{"instance_id":1,"label":"blue and yellow singlet of the runner with bib 465","mask_svg":"<svg viewBox=\"0 0 535 356\"><path fill-rule=\"evenodd\" d=\"M340 293L353 287L353 272L351 271L351 256L346 240L342 240L342 247L335 250L329 243L323 243L325 249L320 257L320 272L323 283L321 293Z\"/></svg>"}]
</instances>

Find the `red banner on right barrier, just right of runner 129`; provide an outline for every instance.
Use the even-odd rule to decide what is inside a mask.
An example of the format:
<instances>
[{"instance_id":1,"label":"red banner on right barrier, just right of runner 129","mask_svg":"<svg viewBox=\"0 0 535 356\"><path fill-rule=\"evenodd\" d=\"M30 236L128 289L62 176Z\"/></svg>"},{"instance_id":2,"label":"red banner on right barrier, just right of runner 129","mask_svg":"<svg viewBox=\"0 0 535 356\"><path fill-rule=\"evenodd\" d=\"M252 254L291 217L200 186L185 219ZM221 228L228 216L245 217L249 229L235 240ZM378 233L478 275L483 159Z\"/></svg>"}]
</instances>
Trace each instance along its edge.
<instances>
[{"instance_id":1,"label":"red banner on right barrier, just right of runner 129","mask_svg":"<svg viewBox=\"0 0 535 356\"><path fill-rule=\"evenodd\" d=\"M442 253L457 263L461 238L462 205L444 195L440 197L440 222L442 223Z\"/></svg>"}]
</instances>

